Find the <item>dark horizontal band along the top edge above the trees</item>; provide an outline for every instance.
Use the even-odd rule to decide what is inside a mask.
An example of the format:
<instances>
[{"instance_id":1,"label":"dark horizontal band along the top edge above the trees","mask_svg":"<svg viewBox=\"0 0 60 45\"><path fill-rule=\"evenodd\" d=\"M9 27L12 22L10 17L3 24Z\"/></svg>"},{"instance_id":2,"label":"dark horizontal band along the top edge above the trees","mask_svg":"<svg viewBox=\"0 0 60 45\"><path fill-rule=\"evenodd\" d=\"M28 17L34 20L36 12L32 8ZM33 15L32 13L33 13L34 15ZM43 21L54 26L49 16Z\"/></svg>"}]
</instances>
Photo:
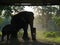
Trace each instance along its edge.
<instances>
[{"instance_id":1,"label":"dark horizontal band along the top edge above the trees","mask_svg":"<svg viewBox=\"0 0 60 45\"><path fill-rule=\"evenodd\" d=\"M30 3L31 5L59 5L59 2L60 0L0 0L0 5L21 5L21 3Z\"/></svg>"}]
</instances>

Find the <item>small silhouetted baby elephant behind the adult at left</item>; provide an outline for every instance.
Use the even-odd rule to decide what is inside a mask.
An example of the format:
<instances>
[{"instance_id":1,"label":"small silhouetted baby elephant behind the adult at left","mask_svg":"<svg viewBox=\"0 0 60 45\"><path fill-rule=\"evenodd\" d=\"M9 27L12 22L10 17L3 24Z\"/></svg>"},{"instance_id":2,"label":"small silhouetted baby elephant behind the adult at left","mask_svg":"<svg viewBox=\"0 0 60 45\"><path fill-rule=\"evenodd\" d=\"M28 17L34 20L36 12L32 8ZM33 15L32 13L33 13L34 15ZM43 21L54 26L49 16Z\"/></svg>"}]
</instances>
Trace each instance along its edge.
<instances>
[{"instance_id":1,"label":"small silhouetted baby elephant behind the adult at left","mask_svg":"<svg viewBox=\"0 0 60 45\"><path fill-rule=\"evenodd\" d=\"M14 33L14 30L15 28L11 24L4 26L2 29L2 41L4 40L5 36L7 36L7 40L9 40L10 36Z\"/></svg>"}]
</instances>

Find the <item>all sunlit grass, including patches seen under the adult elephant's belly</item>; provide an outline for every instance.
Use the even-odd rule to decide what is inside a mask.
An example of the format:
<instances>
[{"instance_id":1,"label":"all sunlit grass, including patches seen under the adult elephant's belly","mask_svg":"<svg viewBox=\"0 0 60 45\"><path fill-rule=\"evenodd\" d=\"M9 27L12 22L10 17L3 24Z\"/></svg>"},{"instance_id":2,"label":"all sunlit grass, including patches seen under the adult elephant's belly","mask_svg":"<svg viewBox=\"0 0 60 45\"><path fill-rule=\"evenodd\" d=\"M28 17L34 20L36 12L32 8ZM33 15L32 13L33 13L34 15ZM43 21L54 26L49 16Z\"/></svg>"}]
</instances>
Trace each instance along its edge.
<instances>
[{"instance_id":1,"label":"all sunlit grass, including patches seen under the adult elephant's belly","mask_svg":"<svg viewBox=\"0 0 60 45\"><path fill-rule=\"evenodd\" d=\"M23 31L22 31L23 32ZM18 33L18 37L22 37L23 33L21 31ZM31 33L30 31L28 31L29 37L31 38ZM2 33L0 32L0 37L1 37ZM36 39L40 42L56 42L56 43L60 43L60 37L45 37L44 32L43 31L36 31Z\"/></svg>"}]
</instances>

